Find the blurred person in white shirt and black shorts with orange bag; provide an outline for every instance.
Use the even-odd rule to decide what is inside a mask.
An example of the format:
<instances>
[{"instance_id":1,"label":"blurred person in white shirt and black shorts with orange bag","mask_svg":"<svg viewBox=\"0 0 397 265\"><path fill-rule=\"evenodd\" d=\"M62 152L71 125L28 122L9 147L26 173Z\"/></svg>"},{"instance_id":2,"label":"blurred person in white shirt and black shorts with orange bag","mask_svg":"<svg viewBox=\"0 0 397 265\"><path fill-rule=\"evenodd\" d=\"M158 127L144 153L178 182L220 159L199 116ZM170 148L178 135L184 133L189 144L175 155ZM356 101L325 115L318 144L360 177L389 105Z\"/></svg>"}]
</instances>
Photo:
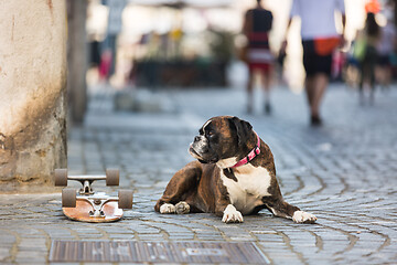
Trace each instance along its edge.
<instances>
[{"instance_id":1,"label":"blurred person in white shirt and black shorts with orange bag","mask_svg":"<svg viewBox=\"0 0 397 265\"><path fill-rule=\"evenodd\" d=\"M336 31L335 11L341 13L342 35ZM322 125L320 104L329 85L332 53L337 46L344 45L346 21L344 1L293 0L288 29L294 17L301 19L303 66L307 74L305 92L310 106L310 123L312 126L320 126ZM286 47L287 34L280 53L285 53Z\"/></svg>"}]
</instances>

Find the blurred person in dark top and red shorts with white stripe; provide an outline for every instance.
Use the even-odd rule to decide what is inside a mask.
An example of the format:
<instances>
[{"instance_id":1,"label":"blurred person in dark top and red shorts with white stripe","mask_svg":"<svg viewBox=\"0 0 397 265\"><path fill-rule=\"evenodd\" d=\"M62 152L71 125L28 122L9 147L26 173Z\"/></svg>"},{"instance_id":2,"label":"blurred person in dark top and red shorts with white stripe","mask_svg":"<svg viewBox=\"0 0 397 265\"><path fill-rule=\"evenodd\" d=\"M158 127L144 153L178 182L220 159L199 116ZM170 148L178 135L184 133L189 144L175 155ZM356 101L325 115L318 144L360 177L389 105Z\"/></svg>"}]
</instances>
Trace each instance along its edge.
<instances>
[{"instance_id":1,"label":"blurred person in dark top and red shorts with white stripe","mask_svg":"<svg viewBox=\"0 0 397 265\"><path fill-rule=\"evenodd\" d=\"M264 107L266 114L271 113L270 83L272 74L273 55L269 46L269 31L272 25L272 13L265 9L261 0L257 0L254 9L246 12L243 24L243 33L248 40L246 61L248 64L247 82L247 112L254 110L254 78L259 73L265 89Z\"/></svg>"}]
</instances>

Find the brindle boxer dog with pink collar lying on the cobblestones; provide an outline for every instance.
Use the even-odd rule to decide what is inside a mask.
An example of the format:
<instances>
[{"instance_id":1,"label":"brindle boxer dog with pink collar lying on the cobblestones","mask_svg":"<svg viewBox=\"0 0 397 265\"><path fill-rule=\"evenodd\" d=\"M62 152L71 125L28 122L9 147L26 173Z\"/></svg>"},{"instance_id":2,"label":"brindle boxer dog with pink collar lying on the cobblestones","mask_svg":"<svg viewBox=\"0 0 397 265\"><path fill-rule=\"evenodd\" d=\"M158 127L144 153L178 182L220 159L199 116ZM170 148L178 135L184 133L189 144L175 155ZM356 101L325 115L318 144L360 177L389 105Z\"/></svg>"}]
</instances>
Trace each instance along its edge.
<instances>
[{"instance_id":1,"label":"brindle boxer dog with pink collar lying on the cobblestones","mask_svg":"<svg viewBox=\"0 0 397 265\"><path fill-rule=\"evenodd\" d=\"M243 215L268 209L297 223L316 221L283 200L270 148L249 123L232 116L211 118L189 151L198 161L172 177L157 212L211 212L225 223L239 223Z\"/></svg>"}]
</instances>

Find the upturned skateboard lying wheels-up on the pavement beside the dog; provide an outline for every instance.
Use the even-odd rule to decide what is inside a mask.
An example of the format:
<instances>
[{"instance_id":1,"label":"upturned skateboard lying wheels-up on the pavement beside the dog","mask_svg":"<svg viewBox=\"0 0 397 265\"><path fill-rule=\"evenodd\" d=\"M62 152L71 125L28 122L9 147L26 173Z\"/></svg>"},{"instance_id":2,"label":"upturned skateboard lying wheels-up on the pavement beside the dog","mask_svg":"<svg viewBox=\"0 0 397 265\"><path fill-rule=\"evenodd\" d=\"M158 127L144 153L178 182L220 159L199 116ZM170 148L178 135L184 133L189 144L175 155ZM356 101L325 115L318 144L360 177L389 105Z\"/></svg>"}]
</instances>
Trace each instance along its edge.
<instances>
[{"instance_id":1,"label":"upturned skateboard lying wheels-up on the pavement beside the dog","mask_svg":"<svg viewBox=\"0 0 397 265\"><path fill-rule=\"evenodd\" d=\"M74 188L62 190L62 210L71 220L89 223L115 222L122 218L124 209L132 209L131 190L119 190L117 197L93 190L92 184L96 180L106 180L106 186L118 186L118 169L107 169L104 176L68 176L67 169L55 169L55 186L66 187L67 180L82 183L78 191Z\"/></svg>"}]
</instances>

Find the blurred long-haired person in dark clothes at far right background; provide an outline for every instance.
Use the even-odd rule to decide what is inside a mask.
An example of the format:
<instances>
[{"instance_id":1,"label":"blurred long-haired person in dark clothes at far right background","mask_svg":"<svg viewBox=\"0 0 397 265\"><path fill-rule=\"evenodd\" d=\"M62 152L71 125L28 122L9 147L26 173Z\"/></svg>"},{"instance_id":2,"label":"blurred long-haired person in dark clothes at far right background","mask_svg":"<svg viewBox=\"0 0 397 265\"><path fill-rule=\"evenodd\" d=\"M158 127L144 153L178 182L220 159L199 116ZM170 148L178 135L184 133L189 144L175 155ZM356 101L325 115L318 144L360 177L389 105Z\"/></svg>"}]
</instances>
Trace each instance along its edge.
<instances>
[{"instance_id":1,"label":"blurred long-haired person in dark clothes at far right background","mask_svg":"<svg viewBox=\"0 0 397 265\"><path fill-rule=\"evenodd\" d=\"M376 47L380 40L380 26L375 20L375 13L368 12L365 25L362 31L357 34L357 41L364 42L363 55L360 61L360 102L364 103L364 84L368 83L369 85L369 99L371 104L374 103L374 92L375 92L375 66L378 60Z\"/></svg>"}]
</instances>

